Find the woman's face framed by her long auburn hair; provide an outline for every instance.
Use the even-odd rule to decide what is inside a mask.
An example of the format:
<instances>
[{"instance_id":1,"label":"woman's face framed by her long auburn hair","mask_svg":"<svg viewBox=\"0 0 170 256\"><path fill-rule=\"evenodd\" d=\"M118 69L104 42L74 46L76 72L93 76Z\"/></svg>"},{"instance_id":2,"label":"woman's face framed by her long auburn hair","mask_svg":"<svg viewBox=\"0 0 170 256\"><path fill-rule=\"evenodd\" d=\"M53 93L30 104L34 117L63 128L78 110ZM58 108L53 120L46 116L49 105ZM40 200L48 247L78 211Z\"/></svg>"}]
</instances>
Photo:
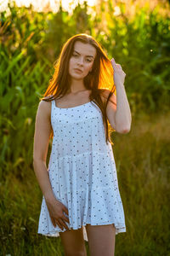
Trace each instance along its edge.
<instances>
[{"instance_id":1,"label":"woman's face framed by her long auburn hair","mask_svg":"<svg viewBox=\"0 0 170 256\"><path fill-rule=\"evenodd\" d=\"M69 61L69 74L73 79L85 78L92 71L96 49L91 44L83 44L77 41ZM82 72L77 72L76 68Z\"/></svg>"}]
</instances>

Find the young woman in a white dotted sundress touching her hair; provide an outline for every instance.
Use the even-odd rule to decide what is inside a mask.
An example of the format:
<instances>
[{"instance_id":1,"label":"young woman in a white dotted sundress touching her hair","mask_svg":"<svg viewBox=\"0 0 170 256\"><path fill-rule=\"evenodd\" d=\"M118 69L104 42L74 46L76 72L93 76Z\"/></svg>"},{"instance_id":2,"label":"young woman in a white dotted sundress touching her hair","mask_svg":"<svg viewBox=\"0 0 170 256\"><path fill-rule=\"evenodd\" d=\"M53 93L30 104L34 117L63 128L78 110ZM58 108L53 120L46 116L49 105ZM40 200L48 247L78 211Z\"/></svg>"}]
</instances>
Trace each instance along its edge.
<instances>
[{"instance_id":1,"label":"young woman in a white dotted sundress touching her hair","mask_svg":"<svg viewBox=\"0 0 170 256\"><path fill-rule=\"evenodd\" d=\"M65 255L87 255L84 240L91 256L114 255L126 225L109 131L130 131L126 74L84 33L69 38L54 67L35 124L33 165L43 194L37 232L60 236Z\"/></svg>"}]
</instances>

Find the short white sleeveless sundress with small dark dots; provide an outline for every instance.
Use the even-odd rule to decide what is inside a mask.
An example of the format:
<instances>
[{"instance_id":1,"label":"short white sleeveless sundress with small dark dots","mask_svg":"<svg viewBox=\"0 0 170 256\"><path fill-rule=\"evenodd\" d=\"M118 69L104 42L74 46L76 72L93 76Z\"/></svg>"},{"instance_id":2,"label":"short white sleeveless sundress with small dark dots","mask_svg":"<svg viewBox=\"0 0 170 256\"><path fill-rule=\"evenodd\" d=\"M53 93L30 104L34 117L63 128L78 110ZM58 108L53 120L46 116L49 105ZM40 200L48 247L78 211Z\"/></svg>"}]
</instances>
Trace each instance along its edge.
<instances>
[{"instance_id":1,"label":"short white sleeveless sundress with small dark dots","mask_svg":"<svg viewBox=\"0 0 170 256\"><path fill-rule=\"evenodd\" d=\"M88 241L86 224L115 224L116 234L126 232L116 164L111 143L105 142L102 113L93 102L73 107L51 105L54 131L48 163L48 177L55 198L67 207L69 229L82 227ZM64 232L54 227L42 195L37 233L59 236Z\"/></svg>"}]
</instances>

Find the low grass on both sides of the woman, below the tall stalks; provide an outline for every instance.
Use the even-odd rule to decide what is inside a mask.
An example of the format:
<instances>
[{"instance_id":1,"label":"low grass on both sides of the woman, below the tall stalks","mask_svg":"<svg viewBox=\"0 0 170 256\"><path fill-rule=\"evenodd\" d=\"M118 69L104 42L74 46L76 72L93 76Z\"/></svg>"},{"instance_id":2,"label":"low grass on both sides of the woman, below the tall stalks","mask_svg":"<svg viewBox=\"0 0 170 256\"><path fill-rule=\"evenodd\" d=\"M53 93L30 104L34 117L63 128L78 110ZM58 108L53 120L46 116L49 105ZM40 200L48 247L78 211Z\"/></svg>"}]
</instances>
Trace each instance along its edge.
<instances>
[{"instance_id":1,"label":"low grass on both sides of the woman, below the tall stalks","mask_svg":"<svg viewBox=\"0 0 170 256\"><path fill-rule=\"evenodd\" d=\"M112 134L127 224L116 255L169 255L169 125L170 113L145 114L129 133ZM11 170L1 183L1 255L64 255L60 237L37 235L42 192L33 168L24 173Z\"/></svg>"}]
</instances>

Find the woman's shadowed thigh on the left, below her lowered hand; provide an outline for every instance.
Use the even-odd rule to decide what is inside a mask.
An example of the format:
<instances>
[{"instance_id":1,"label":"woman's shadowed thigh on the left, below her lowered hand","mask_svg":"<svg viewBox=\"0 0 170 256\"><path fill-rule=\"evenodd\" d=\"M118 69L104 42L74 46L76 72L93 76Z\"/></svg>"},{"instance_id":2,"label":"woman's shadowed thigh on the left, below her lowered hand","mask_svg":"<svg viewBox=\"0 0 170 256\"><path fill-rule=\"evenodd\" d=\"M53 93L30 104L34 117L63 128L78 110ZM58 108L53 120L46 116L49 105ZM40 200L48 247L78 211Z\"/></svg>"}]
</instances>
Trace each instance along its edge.
<instances>
[{"instance_id":1,"label":"woman's shadowed thigh on the left, below her lowered hand","mask_svg":"<svg viewBox=\"0 0 170 256\"><path fill-rule=\"evenodd\" d=\"M59 232L65 256L87 256L82 228Z\"/></svg>"}]
</instances>

